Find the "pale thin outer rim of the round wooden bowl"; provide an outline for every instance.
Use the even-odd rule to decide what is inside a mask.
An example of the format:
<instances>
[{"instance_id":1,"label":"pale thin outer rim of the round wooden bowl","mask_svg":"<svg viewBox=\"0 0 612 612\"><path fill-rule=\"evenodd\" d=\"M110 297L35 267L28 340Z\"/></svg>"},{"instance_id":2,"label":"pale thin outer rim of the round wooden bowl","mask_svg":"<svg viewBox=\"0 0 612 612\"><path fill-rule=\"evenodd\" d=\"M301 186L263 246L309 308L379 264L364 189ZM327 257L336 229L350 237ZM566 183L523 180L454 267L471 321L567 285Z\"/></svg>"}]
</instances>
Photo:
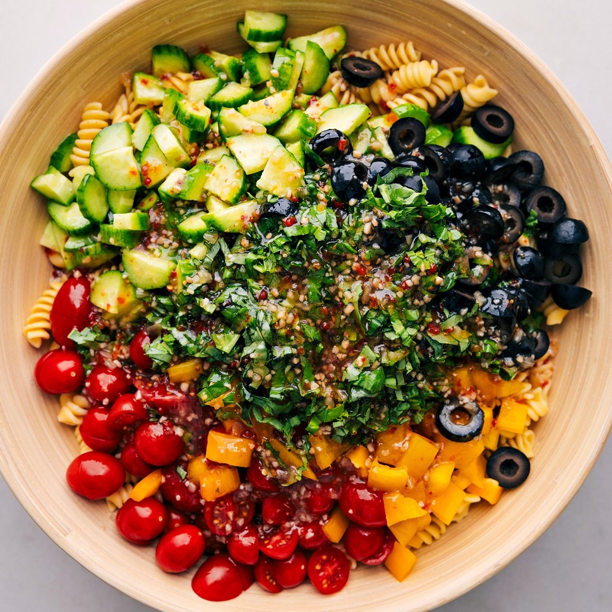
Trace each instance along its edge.
<instances>
[{"instance_id":1,"label":"pale thin outer rim of the round wooden bowl","mask_svg":"<svg viewBox=\"0 0 612 612\"><path fill-rule=\"evenodd\" d=\"M534 53L534 51L531 50L531 48L529 48L525 43L521 42L517 36L504 28L504 26L501 26L501 24L499 24L493 18L488 17L486 13L469 4L469 2L466 2L465 0L441 1L454 7L455 9L460 10L460 12L465 13L473 20L479 22L479 24L484 28L493 31L494 34L504 37L506 43L517 51L517 53L521 54L521 56L523 56L534 67L534 69L537 70L540 78L548 81L548 83L556 89L559 99L565 106L572 109L573 113L575 113L577 116L578 121L580 121L584 133L588 135L592 155L595 159L597 159L600 170L602 171L602 178L608 184L608 188L612 193L612 163L610 162L610 159L608 158L608 155L606 154L605 149L603 148L603 145L595 133L591 123L588 121L586 116L584 116L580 106L578 106L578 104L575 102L572 95L567 91L564 84L562 84L561 80L559 80L554 71L548 67L548 65L543 62L542 59L540 59L539 56ZM114 18L118 17L126 10L134 9L138 6L144 6L146 2L147 0L124 0L120 2L117 6L107 10L100 15L100 17L89 23L88 26L81 29L81 31L62 45L62 47L59 48L59 50L56 51L47 60L47 62L45 62L45 64L42 65L42 67L29 81L26 88L24 88L21 94L18 95L15 102L13 102L9 107L4 119L2 119L0 122L0 150L4 148L5 141L8 138L7 135L10 132L10 124L12 124L13 119L16 119L21 113L23 103L32 96L32 93L40 87L40 83L45 80L45 73L53 72L56 64L59 64L61 61L67 58L67 56L73 53L73 51L75 51L79 45L86 41L91 32L94 32L101 26L110 23L110 21L113 21ZM290 10L288 10L288 12L290 13ZM553 524L554 521L559 518L561 513L564 512L565 508L569 505L570 501L572 501L584 483L584 480L586 480L592 471L600 453L603 450L603 447L606 444L608 436L612 431L612 409L608 410L606 414L606 422L602 425L603 427L600 428L598 439L595 444L592 445L591 452L589 453L588 458L584 461L580 473L573 478L572 482L567 483L568 487L564 490L564 496L561 503L553 511L549 512L547 517L544 517L543 520L540 520L535 525L535 529L531 532L529 537L524 540L517 541L512 547L507 549L506 554L504 554L502 558L498 559L495 564L492 564L486 572L481 573L478 577L474 577L471 580L466 581L466 583L459 589L454 589L452 593L445 591L443 588L439 589L438 594L433 597L430 604L415 609L415 612L433 610L435 608L430 608L429 605L433 604L437 608L438 606L444 605L444 603L448 603L454 599L457 599L466 592L471 591L504 569L504 567L509 565L510 562L517 558L518 555L526 550L526 548L531 546L535 540L539 539L539 537L545 531L547 531L551 524ZM99 572L99 567L96 567L91 558L89 558L78 548L70 546L69 542L62 539L58 531L51 529L50 524L47 523L43 513L40 511L39 507L32 500L32 498L20 493L17 479L13 477L10 469L12 460L9 460L8 450L9 445L4 441L4 438L0 436L0 475L4 478L4 481L7 483L15 498L17 498L17 501L20 503L21 507L26 510L39 528L42 529L42 531L45 532L45 534L47 534L47 536L53 540L53 542L56 543L59 548L61 548L65 553L69 554L76 562L91 572L95 577L100 578L100 580L103 580L106 584L109 584L113 588L121 591L125 595L128 595L132 599L143 603L144 605L151 606L152 608L155 608L155 610L160 609L156 607L158 603L156 602L154 595L148 595L143 592L135 591L134 589L124 588L109 572L104 572L103 575L101 575Z\"/></svg>"}]
</instances>

